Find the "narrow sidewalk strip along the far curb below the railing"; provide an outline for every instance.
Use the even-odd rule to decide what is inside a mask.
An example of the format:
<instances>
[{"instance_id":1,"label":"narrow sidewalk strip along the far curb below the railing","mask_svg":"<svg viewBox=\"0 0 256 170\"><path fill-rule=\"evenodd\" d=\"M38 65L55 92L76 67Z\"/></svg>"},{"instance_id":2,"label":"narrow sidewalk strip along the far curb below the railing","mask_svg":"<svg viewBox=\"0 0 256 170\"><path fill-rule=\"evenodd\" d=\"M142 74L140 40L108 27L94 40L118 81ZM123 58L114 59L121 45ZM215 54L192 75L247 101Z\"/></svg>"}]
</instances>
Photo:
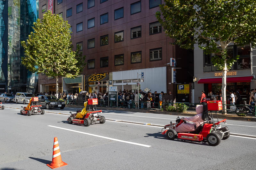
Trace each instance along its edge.
<instances>
[{"instance_id":1,"label":"narrow sidewalk strip along the far curb below the railing","mask_svg":"<svg viewBox=\"0 0 256 170\"><path fill-rule=\"evenodd\" d=\"M75 105L66 105L66 107L76 107L76 108L83 108L82 106L75 106ZM160 110L146 110L146 109L127 109L127 108L119 108L119 107L97 107L98 110L117 110L117 111L129 111L129 112L141 112L141 113L155 113L155 114L165 114L165 115L179 115L182 117L186 116L194 116L196 115L196 111L187 111L187 113L179 113L179 112L166 112ZM213 118L219 119L228 119L228 120L240 120L240 121L255 121L255 116L245 116L241 117L236 115L235 113L228 114L228 115L221 115L221 114L212 114Z\"/></svg>"}]
</instances>

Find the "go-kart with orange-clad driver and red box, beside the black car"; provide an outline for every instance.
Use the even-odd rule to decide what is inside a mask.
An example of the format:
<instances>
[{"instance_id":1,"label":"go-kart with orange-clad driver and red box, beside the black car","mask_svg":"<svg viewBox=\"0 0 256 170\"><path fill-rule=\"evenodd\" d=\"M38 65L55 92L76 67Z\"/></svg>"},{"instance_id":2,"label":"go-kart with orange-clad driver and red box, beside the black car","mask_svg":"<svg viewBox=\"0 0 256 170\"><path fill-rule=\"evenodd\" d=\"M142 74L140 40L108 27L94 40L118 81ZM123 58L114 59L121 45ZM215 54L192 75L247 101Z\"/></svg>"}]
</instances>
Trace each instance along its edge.
<instances>
[{"instance_id":1,"label":"go-kart with orange-clad driver and red box, beside the black car","mask_svg":"<svg viewBox=\"0 0 256 170\"><path fill-rule=\"evenodd\" d=\"M28 115L31 116L32 114L41 114L44 115L44 109L41 109L42 105L38 105L38 97L32 97L29 100L28 106L23 107L23 110L20 110L20 115Z\"/></svg>"}]
</instances>

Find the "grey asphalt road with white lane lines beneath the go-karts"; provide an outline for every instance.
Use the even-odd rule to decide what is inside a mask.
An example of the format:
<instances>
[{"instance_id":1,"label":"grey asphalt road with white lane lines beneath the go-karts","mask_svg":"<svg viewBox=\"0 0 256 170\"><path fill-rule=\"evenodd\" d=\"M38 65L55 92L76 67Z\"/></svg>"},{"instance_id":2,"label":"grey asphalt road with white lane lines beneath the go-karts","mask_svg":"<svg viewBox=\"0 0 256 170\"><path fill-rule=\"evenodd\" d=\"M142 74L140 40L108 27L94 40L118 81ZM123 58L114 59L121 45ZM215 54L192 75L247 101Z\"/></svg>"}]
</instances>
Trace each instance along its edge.
<instances>
[{"instance_id":1,"label":"grey asphalt road with white lane lines beneath the go-karts","mask_svg":"<svg viewBox=\"0 0 256 170\"><path fill-rule=\"evenodd\" d=\"M213 147L206 142L171 141L162 135L159 126L175 122L175 115L103 110L106 123L84 127L68 124L68 115L58 114L75 112L76 108L50 109L44 115L27 116L15 109L23 104L3 105L1 170L50 169L46 164L52 161L54 137L58 137L62 160L68 163L60 170L256 167L256 122L228 120L224 126L232 136Z\"/></svg>"}]
</instances>

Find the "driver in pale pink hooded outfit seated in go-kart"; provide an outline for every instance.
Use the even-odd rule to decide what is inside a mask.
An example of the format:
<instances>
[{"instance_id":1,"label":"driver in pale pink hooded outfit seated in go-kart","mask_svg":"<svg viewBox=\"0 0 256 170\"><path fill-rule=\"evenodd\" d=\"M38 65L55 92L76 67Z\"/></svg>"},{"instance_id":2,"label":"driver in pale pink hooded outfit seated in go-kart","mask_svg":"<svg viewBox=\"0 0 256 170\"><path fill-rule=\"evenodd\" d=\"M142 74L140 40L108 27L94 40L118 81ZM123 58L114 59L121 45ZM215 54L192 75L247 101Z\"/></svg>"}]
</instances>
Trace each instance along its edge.
<instances>
[{"instance_id":1,"label":"driver in pale pink hooded outfit seated in go-kart","mask_svg":"<svg viewBox=\"0 0 256 170\"><path fill-rule=\"evenodd\" d=\"M187 123L181 123L178 127L175 127L176 132L191 132L195 131L198 126L203 124L204 120L202 119L203 115L203 105L196 105L196 115L193 117L182 117L181 120L187 121ZM195 123L188 123L195 122Z\"/></svg>"}]
</instances>

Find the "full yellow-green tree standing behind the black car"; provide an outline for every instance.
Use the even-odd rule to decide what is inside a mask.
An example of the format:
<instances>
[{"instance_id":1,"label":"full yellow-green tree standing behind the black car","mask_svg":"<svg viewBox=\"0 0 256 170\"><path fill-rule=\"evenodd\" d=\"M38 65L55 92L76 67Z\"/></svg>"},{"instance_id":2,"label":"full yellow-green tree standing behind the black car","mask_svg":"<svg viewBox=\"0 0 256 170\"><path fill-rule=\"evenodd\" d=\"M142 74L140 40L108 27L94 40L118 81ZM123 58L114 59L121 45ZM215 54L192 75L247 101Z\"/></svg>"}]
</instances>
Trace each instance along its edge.
<instances>
[{"instance_id":1,"label":"full yellow-green tree standing behind the black car","mask_svg":"<svg viewBox=\"0 0 256 170\"><path fill-rule=\"evenodd\" d=\"M21 41L26 56L22 57L21 63L33 73L45 73L56 78L58 94L58 78L76 78L84 68L85 56L79 48L72 50L70 26L59 15L47 11L42 20L37 19L33 29L27 42Z\"/></svg>"}]
</instances>

